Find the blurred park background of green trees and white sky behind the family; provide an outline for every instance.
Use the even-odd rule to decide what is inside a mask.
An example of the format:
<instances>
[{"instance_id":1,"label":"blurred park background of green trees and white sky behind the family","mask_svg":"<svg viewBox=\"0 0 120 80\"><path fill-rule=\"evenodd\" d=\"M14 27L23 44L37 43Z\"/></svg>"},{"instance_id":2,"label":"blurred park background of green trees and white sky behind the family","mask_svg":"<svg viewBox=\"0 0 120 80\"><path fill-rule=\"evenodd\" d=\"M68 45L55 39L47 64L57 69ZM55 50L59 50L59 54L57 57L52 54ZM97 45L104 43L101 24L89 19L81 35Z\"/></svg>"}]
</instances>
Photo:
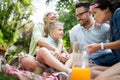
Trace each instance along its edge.
<instances>
[{"instance_id":1,"label":"blurred park background of green trees and white sky behind the family","mask_svg":"<svg viewBox=\"0 0 120 80\"><path fill-rule=\"evenodd\" d=\"M64 23L63 42L70 48L69 32L78 22L75 3L93 0L0 0L0 54L14 65L20 52L28 53L34 24L43 23L46 11L56 10ZM0 48L1 48L0 47Z\"/></svg>"}]
</instances>

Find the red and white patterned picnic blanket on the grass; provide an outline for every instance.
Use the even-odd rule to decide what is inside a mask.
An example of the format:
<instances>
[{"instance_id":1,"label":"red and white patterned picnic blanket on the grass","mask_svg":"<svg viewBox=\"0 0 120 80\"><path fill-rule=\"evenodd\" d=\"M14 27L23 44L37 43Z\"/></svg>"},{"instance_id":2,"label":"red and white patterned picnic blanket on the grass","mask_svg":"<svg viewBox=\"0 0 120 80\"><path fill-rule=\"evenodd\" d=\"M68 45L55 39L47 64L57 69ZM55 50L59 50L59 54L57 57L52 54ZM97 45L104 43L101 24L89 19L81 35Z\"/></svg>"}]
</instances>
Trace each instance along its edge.
<instances>
[{"instance_id":1,"label":"red and white patterned picnic blanket on the grass","mask_svg":"<svg viewBox=\"0 0 120 80\"><path fill-rule=\"evenodd\" d=\"M58 80L55 75L50 76L41 76L38 74L35 74L33 72L25 71L25 70L19 70L16 67L6 65L3 70L7 74L14 74L17 75L19 80Z\"/></svg>"}]
</instances>

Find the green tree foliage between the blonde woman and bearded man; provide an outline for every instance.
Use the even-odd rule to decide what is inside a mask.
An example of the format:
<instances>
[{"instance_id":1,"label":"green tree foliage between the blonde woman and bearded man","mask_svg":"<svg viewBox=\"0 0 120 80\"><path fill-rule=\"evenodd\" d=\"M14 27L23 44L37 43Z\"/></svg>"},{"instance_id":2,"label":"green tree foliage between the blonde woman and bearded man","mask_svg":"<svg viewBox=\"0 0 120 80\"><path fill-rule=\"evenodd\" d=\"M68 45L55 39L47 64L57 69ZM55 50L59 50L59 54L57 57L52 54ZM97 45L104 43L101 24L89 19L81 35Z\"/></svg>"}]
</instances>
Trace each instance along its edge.
<instances>
[{"instance_id":1,"label":"green tree foliage between the blonde woman and bearded man","mask_svg":"<svg viewBox=\"0 0 120 80\"><path fill-rule=\"evenodd\" d=\"M48 4L50 1L54 0L47 0L46 3ZM78 23L75 16L75 3L80 1L93 2L93 0L59 0L56 5L56 11L60 14L59 20L64 22L65 35L63 40L67 50L69 50L70 47L69 32L71 28Z\"/></svg>"}]
</instances>

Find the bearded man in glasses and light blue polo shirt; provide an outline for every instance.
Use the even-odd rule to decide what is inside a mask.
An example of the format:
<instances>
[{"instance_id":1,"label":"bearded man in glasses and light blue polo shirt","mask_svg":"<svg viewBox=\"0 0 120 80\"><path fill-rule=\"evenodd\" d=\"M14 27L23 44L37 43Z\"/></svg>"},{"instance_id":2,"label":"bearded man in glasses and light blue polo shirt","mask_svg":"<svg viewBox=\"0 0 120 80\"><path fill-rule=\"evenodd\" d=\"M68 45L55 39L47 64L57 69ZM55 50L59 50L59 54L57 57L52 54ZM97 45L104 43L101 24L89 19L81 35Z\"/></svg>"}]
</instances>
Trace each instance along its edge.
<instances>
[{"instance_id":1,"label":"bearded man in glasses and light blue polo shirt","mask_svg":"<svg viewBox=\"0 0 120 80\"><path fill-rule=\"evenodd\" d=\"M101 25L96 23L89 8L90 3L88 2L76 4L76 17L79 24L75 25L70 32L71 47L74 42L77 42L80 51L82 51L86 45L92 43L106 43L109 38L110 25L108 23ZM111 54L111 50L96 51L89 56L89 59L95 64L103 65L98 63L98 58L104 54Z\"/></svg>"}]
</instances>

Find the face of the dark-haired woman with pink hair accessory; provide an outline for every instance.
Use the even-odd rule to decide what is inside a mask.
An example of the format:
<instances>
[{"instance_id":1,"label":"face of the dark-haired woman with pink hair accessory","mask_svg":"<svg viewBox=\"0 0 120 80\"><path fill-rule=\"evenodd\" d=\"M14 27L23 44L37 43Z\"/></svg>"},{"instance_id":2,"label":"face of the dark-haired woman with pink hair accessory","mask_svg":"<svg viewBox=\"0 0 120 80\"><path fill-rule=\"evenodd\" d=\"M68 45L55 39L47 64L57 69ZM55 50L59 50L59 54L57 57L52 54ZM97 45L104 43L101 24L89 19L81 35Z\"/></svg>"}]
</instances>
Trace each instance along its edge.
<instances>
[{"instance_id":1,"label":"face of the dark-haired woman with pink hair accessory","mask_svg":"<svg viewBox=\"0 0 120 80\"><path fill-rule=\"evenodd\" d=\"M100 8L95 8L93 11L94 19L97 23L103 23L107 21L107 14L105 10L101 10Z\"/></svg>"}]
</instances>

